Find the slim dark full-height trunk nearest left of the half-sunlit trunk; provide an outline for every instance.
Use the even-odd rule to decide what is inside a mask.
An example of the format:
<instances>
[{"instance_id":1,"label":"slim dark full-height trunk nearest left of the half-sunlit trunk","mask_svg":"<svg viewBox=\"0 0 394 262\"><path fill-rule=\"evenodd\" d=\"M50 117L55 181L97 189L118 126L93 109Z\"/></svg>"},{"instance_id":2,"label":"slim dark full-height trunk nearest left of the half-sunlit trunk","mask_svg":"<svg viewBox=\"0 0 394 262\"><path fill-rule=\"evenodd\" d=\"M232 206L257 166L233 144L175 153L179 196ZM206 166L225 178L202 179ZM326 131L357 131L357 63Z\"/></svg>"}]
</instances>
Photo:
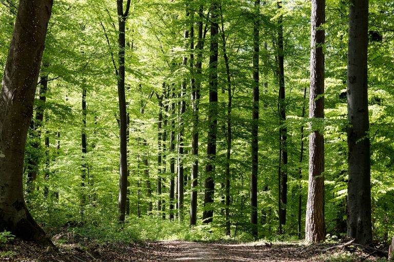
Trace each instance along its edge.
<instances>
[{"instance_id":1,"label":"slim dark full-height trunk nearest left of the half-sunlit trunk","mask_svg":"<svg viewBox=\"0 0 394 262\"><path fill-rule=\"evenodd\" d=\"M278 0L278 9L282 8L282 0ZM287 128L286 121L286 104L285 104L285 70L284 70L284 50L283 50L283 16L279 16L278 21L278 78L279 78L279 101L278 111L281 127L280 133L280 223L286 225L286 205L287 205Z\"/></svg>"}]
</instances>

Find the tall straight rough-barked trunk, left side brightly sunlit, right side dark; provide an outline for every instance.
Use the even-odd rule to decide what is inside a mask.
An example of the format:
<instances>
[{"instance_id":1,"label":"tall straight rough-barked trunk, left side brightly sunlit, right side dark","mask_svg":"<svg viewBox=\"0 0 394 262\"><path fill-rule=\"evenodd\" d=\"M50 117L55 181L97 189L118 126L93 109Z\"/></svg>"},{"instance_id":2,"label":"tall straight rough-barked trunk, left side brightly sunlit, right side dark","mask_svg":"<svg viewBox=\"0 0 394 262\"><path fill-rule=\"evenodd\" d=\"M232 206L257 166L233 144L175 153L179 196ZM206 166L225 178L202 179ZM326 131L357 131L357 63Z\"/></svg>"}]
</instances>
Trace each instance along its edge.
<instances>
[{"instance_id":1,"label":"tall straight rough-barked trunk, left side brightly sunlit, right side dark","mask_svg":"<svg viewBox=\"0 0 394 262\"><path fill-rule=\"evenodd\" d=\"M309 182L306 203L305 239L323 241L324 224L324 137L317 122L324 119L324 29L325 0L312 0L310 34L310 89L309 89ZM313 123L314 122L314 123Z\"/></svg>"}]
</instances>

